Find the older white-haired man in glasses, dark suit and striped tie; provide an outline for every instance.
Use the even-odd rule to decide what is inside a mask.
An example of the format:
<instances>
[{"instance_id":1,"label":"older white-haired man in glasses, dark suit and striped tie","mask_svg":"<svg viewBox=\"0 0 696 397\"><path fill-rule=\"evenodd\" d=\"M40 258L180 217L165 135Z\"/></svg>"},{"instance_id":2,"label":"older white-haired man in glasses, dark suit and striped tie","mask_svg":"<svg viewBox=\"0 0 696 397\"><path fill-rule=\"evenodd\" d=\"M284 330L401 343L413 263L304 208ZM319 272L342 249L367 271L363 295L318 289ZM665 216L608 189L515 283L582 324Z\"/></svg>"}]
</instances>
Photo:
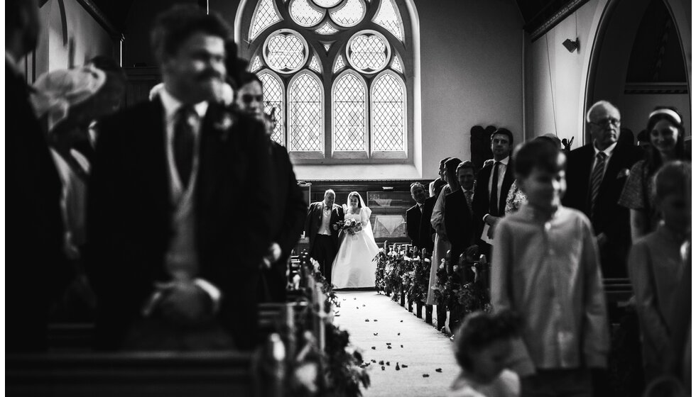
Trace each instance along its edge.
<instances>
[{"instance_id":1,"label":"older white-haired man in glasses, dark suit and striped tie","mask_svg":"<svg viewBox=\"0 0 696 397\"><path fill-rule=\"evenodd\" d=\"M626 255L631 245L629 210L619 206L626 177L643 157L634 145L617 145L621 113L607 101L599 101L587 111L592 142L568 154L567 191L563 205L582 211L591 221L602 274L626 277Z\"/></svg>"}]
</instances>

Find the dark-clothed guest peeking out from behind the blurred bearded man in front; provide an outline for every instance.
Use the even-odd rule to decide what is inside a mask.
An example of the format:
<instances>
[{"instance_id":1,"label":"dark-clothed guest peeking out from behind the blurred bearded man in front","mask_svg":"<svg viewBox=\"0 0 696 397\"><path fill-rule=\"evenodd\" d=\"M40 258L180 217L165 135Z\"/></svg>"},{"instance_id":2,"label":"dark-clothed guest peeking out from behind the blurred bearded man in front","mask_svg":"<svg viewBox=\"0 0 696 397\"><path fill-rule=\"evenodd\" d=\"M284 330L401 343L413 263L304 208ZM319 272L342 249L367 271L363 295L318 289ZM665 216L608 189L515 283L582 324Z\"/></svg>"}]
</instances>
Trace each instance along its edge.
<instances>
[{"instance_id":1,"label":"dark-clothed guest peeking out from behind the blurred bearded man in front","mask_svg":"<svg viewBox=\"0 0 696 397\"><path fill-rule=\"evenodd\" d=\"M227 55L230 59L230 54ZM234 68L234 64L228 69ZM249 72L237 73L239 89L236 92L234 104L241 113L266 123L263 113L263 86L256 74ZM274 124L266 125L266 135L273 134ZM271 186L273 187L273 228L272 242L264 257L266 266L261 271L261 280L266 290L266 301L284 302L288 284L288 260L295 244L302 233L303 220L307 213L307 203L295 179L293 164L290 162L288 151L283 145L268 140L268 150L271 153Z\"/></svg>"}]
</instances>

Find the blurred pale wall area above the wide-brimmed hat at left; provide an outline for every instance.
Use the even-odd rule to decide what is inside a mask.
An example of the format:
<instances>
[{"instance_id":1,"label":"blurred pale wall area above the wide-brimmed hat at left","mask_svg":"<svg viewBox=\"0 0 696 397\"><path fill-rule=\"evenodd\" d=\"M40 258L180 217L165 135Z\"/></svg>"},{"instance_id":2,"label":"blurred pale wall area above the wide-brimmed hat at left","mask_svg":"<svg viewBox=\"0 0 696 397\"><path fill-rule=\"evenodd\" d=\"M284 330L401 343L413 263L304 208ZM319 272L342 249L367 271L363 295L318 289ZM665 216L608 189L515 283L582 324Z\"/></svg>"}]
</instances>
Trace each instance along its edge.
<instances>
[{"instance_id":1,"label":"blurred pale wall area above the wide-brimmed hat at left","mask_svg":"<svg viewBox=\"0 0 696 397\"><path fill-rule=\"evenodd\" d=\"M119 59L119 43L76 0L49 0L36 47L36 77L55 69L84 65L97 55Z\"/></svg>"}]
</instances>

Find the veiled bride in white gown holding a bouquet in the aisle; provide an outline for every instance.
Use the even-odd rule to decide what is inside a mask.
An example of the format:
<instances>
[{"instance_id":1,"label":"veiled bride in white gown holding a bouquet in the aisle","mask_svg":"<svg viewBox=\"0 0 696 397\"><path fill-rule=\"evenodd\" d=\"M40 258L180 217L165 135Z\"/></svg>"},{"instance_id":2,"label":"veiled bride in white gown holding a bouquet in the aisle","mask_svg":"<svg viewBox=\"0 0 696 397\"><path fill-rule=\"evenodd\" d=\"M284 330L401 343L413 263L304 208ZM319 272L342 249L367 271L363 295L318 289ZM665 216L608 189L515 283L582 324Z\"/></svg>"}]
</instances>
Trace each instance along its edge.
<instances>
[{"instance_id":1,"label":"veiled bride in white gown holding a bouquet in the aisle","mask_svg":"<svg viewBox=\"0 0 696 397\"><path fill-rule=\"evenodd\" d=\"M331 270L332 284L336 288L374 287L374 272L377 262L372 259L379 252L374 242L370 214L357 191L348 195L344 206L345 222L355 220L353 232L343 230L339 236L339 248Z\"/></svg>"}]
</instances>

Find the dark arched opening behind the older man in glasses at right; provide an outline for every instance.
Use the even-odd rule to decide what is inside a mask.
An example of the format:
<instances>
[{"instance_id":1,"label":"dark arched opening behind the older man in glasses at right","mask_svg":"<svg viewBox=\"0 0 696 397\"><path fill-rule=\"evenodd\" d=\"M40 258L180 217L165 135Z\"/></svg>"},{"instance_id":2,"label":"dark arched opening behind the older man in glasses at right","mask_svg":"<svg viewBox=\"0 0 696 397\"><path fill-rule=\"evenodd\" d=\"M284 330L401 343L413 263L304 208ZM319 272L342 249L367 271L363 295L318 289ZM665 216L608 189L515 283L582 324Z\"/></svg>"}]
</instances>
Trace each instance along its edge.
<instances>
[{"instance_id":1,"label":"dark arched opening behind the older man in glasses at right","mask_svg":"<svg viewBox=\"0 0 696 397\"><path fill-rule=\"evenodd\" d=\"M683 40L690 30L679 31L674 2L608 1L592 48L584 108L611 101L621 110L622 126L638 135L655 106L676 106L690 137L690 48Z\"/></svg>"}]
</instances>

